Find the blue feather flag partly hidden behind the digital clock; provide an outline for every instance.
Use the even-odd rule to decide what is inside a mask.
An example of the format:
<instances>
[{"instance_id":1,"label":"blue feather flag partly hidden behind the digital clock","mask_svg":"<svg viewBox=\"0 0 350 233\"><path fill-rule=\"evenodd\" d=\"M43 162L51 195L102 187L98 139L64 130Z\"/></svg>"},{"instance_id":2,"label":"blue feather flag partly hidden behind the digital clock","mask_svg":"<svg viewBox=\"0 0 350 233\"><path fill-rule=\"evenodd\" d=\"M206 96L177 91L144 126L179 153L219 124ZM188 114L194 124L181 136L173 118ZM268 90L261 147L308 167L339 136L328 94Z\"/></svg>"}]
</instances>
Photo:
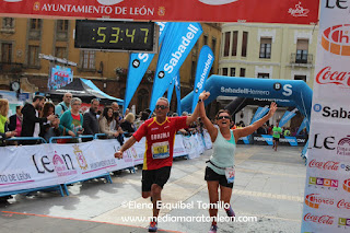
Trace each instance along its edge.
<instances>
[{"instance_id":1,"label":"blue feather flag partly hidden behind the digital clock","mask_svg":"<svg viewBox=\"0 0 350 233\"><path fill-rule=\"evenodd\" d=\"M168 23L156 22L156 24L160 26L159 45L161 45ZM151 61L153 60L153 57L154 57L154 54L138 53L138 54L130 55L128 79L127 79L127 86L126 86L124 108L122 108L124 114L127 107L129 106L130 101L136 90L138 89L147 69L149 68Z\"/></svg>"}]
</instances>

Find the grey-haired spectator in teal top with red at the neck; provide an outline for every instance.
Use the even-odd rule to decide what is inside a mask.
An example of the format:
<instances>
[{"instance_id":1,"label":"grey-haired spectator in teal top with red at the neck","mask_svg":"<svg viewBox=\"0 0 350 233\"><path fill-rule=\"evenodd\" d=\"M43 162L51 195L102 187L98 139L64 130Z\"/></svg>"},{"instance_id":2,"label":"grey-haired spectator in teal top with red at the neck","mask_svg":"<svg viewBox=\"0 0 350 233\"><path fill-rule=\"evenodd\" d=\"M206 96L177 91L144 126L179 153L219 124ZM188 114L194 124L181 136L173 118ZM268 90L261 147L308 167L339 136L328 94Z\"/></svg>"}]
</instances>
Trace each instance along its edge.
<instances>
[{"instance_id":1,"label":"grey-haired spectator in teal top with red at the neck","mask_svg":"<svg viewBox=\"0 0 350 233\"><path fill-rule=\"evenodd\" d=\"M79 113L81 107L81 100L73 97L71 101L71 109L63 113L60 118L59 128L63 136L77 137L83 133L83 116Z\"/></svg>"}]
</instances>

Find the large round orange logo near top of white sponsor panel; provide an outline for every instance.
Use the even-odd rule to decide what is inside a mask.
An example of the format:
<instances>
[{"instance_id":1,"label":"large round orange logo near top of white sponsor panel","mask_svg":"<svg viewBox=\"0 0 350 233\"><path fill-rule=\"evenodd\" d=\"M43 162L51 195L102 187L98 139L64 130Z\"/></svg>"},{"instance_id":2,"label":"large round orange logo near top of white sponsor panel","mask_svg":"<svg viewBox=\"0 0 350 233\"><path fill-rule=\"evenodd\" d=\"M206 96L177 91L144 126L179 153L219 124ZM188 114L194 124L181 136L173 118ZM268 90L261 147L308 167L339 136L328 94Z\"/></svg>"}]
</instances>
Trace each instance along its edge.
<instances>
[{"instance_id":1,"label":"large round orange logo near top of white sponsor panel","mask_svg":"<svg viewBox=\"0 0 350 233\"><path fill-rule=\"evenodd\" d=\"M340 24L325 30L320 44L331 54L350 56L350 24Z\"/></svg>"}]
</instances>

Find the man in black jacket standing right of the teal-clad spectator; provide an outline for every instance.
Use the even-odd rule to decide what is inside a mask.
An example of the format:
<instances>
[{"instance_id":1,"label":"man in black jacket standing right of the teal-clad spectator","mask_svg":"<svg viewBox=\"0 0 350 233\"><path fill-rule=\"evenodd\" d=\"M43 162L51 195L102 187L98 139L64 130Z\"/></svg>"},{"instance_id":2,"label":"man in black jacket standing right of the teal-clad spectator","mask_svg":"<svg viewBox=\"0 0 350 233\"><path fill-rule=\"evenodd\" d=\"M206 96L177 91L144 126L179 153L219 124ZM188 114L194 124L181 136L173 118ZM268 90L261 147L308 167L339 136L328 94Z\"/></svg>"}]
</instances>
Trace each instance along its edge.
<instances>
[{"instance_id":1,"label":"man in black jacket standing right of the teal-clad spectator","mask_svg":"<svg viewBox=\"0 0 350 233\"><path fill-rule=\"evenodd\" d=\"M91 101L90 109L84 113L84 135L95 135L98 133L98 120L97 120L97 109L98 109L100 101L94 98ZM90 140L84 140L90 141Z\"/></svg>"}]
</instances>

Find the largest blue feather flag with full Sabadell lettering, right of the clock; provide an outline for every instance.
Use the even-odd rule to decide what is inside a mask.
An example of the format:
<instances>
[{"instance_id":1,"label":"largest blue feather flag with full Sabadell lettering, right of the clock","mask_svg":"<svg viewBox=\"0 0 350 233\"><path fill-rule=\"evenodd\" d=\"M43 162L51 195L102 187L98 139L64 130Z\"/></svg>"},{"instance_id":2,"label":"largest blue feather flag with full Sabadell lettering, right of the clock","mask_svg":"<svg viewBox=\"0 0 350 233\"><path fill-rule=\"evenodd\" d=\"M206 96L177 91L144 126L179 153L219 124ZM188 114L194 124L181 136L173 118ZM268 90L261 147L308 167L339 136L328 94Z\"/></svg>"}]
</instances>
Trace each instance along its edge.
<instances>
[{"instance_id":1,"label":"largest blue feather flag with full Sabadell lettering, right of the clock","mask_svg":"<svg viewBox=\"0 0 350 233\"><path fill-rule=\"evenodd\" d=\"M199 23L170 24L158 60L150 102L151 112L154 110L156 100L164 94L202 33Z\"/></svg>"}]
</instances>

